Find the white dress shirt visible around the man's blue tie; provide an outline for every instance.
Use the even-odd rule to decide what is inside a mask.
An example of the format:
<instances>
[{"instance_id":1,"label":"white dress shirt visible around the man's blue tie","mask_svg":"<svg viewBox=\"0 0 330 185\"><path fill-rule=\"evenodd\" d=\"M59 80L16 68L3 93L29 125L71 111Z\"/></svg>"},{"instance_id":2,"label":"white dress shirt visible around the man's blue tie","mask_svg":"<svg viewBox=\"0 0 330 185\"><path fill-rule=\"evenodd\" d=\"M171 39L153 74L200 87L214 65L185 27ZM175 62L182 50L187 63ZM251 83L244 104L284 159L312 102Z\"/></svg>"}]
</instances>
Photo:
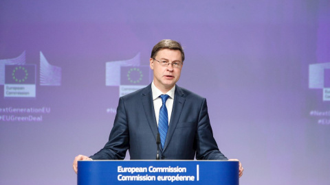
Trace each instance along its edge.
<instances>
[{"instance_id":1,"label":"white dress shirt visible around the man's blue tie","mask_svg":"<svg viewBox=\"0 0 330 185\"><path fill-rule=\"evenodd\" d=\"M155 116L157 125L159 122L159 110L162 107L162 98L159 97L160 95L164 95L162 91L160 91L155 84L151 83L151 91L153 92L153 108L155 109ZM166 108L167 108L167 114L168 114L168 125L170 125L170 115L172 114L172 108L173 108L173 101L174 101L174 92L175 92L175 86L168 90L166 95L170 96L168 97L166 101Z\"/></svg>"}]
</instances>

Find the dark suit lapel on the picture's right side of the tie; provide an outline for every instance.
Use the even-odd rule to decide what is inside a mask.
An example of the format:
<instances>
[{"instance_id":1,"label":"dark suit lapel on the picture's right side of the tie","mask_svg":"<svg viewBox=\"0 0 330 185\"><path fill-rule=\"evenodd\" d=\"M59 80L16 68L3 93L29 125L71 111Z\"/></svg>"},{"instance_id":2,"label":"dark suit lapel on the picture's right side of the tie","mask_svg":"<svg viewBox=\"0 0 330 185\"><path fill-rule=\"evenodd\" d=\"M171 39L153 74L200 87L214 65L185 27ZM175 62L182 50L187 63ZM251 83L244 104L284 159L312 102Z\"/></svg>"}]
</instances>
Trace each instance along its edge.
<instances>
[{"instance_id":1,"label":"dark suit lapel on the picture's right side of the tie","mask_svg":"<svg viewBox=\"0 0 330 185\"><path fill-rule=\"evenodd\" d=\"M182 89L179 86L176 86L173 109L172 109L172 114L170 116L170 125L168 127L168 132L167 132L163 151L166 149L168 143L170 143L170 139L172 138L175 128L177 127L177 123L179 122L181 111L182 108L184 107L184 101L186 101L183 95L184 92L182 91Z\"/></svg>"}]
</instances>

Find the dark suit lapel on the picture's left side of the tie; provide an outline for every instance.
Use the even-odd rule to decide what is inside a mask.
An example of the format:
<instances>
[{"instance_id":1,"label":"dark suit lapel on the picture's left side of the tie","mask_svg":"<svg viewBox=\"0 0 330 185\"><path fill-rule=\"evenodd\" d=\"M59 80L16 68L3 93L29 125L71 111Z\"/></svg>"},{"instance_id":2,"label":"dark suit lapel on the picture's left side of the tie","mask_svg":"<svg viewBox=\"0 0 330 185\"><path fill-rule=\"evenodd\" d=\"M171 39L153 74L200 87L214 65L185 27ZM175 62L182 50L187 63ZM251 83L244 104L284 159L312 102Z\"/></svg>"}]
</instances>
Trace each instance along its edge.
<instances>
[{"instance_id":1,"label":"dark suit lapel on the picture's left side of the tie","mask_svg":"<svg viewBox=\"0 0 330 185\"><path fill-rule=\"evenodd\" d=\"M146 119L148 120L149 126L156 140L158 128L155 117L155 109L153 108L153 93L151 92L151 84L142 91L142 104L144 113L146 114Z\"/></svg>"}]
</instances>

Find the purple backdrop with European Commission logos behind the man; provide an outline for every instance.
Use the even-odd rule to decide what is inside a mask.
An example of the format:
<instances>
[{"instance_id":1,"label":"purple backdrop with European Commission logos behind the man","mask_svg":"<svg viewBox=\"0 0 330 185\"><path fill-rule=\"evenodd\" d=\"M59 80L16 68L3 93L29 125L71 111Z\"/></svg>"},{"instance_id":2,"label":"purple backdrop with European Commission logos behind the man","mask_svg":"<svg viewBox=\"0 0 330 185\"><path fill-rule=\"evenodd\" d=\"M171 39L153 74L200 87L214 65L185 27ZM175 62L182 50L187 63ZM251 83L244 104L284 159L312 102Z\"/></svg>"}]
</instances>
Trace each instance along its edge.
<instances>
[{"instance_id":1,"label":"purple backdrop with European Commission logos behind the man","mask_svg":"<svg viewBox=\"0 0 330 185\"><path fill-rule=\"evenodd\" d=\"M0 184L76 184L165 38L241 184L329 184L329 33L327 0L2 0Z\"/></svg>"}]
</instances>

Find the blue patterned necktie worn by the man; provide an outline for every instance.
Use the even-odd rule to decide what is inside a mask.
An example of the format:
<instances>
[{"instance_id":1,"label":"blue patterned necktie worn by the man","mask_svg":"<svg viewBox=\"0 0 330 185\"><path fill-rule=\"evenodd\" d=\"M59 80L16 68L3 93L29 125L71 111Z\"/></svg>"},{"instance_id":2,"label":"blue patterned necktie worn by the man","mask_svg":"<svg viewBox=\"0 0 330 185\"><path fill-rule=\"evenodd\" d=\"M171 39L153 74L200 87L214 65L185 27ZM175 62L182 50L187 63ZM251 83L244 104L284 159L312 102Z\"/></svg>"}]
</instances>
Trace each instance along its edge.
<instances>
[{"instance_id":1,"label":"blue patterned necktie worn by the man","mask_svg":"<svg viewBox=\"0 0 330 185\"><path fill-rule=\"evenodd\" d=\"M160 142L162 143L163 149L168 130L168 114L166 108L166 100L168 99L168 97L168 95L160 95L160 98L162 98L163 101L163 105L159 110L158 132L160 135Z\"/></svg>"}]
</instances>

